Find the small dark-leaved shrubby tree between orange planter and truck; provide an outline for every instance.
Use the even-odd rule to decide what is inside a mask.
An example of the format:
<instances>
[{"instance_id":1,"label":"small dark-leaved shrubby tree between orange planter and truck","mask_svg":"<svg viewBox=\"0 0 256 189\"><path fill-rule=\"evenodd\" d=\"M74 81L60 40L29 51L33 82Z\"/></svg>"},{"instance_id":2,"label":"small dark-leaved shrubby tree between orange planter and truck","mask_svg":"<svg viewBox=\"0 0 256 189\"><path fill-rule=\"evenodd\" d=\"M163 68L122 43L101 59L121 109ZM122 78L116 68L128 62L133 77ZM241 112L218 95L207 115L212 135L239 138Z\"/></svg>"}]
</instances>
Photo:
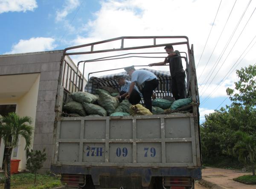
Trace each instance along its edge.
<instances>
[{"instance_id":1,"label":"small dark-leaved shrubby tree between orange planter and truck","mask_svg":"<svg viewBox=\"0 0 256 189\"><path fill-rule=\"evenodd\" d=\"M30 172L35 174L35 180L36 180L36 174L38 169L41 169L43 167L43 163L46 160L46 153L45 152L45 148L43 150L43 152L41 152L40 150L31 150L28 151L28 156L29 159L27 160L26 163L26 169L28 169ZM35 184L35 180L34 180L34 184Z\"/></svg>"}]
</instances>

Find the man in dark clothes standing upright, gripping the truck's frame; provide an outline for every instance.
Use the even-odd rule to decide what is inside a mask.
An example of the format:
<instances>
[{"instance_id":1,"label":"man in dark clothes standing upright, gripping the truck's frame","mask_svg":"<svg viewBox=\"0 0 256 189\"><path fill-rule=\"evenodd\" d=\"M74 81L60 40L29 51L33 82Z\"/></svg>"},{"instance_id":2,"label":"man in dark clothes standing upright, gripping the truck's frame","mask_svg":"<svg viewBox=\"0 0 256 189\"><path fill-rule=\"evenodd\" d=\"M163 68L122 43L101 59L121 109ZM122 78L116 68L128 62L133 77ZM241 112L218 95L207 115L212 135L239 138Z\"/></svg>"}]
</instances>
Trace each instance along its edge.
<instances>
[{"instance_id":1,"label":"man in dark clothes standing upright, gripping the truck's frame","mask_svg":"<svg viewBox=\"0 0 256 189\"><path fill-rule=\"evenodd\" d=\"M186 98L185 88L185 71L183 70L180 52L173 49L172 45L164 47L168 56L163 62L148 64L148 66L161 66L169 63L170 73L172 76L172 95L175 100Z\"/></svg>"}]
</instances>

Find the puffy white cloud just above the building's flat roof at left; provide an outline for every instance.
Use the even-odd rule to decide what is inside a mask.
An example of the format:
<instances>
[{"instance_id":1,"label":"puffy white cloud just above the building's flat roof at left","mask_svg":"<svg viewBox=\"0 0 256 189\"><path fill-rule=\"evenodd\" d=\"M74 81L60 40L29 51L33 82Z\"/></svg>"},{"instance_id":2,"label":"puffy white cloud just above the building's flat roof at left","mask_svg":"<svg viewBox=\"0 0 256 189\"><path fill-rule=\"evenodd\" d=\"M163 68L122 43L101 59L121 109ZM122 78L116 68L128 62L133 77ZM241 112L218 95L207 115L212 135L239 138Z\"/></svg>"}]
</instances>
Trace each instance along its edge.
<instances>
[{"instance_id":1,"label":"puffy white cloud just above the building's flat roof at left","mask_svg":"<svg viewBox=\"0 0 256 189\"><path fill-rule=\"evenodd\" d=\"M56 47L54 41L55 39L53 38L43 37L30 38L28 40L21 39L17 44L12 46L12 50L10 52L6 52L5 54L52 50Z\"/></svg>"}]
</instances>

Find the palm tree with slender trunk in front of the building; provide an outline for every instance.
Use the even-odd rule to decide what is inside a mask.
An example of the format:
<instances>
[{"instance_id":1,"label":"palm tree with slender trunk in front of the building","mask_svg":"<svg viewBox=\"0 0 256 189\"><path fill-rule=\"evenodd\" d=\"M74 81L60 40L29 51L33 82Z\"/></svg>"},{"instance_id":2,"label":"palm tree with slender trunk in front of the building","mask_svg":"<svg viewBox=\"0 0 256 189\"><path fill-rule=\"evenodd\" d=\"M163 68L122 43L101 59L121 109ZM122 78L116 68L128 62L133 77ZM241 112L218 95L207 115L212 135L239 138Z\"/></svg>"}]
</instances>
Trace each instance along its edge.
<instances>
[{"instance_id":1,"label":"palm tree with slender trunk in front of the building","mask_svg":"<svg viewBox=\"0 0 256 189\"><path fill-rule=\"evenodd\" d=\"M12 149L17 146L19 135L24 137L26 141L25 149L29 147L34 130L31 123L31 117L20 117L14 112L0 118L0 137L3 139L4 145L7 148L5 154L5 189L10 189L11 187L10 162Z\"/></svg>"}]
</instances>

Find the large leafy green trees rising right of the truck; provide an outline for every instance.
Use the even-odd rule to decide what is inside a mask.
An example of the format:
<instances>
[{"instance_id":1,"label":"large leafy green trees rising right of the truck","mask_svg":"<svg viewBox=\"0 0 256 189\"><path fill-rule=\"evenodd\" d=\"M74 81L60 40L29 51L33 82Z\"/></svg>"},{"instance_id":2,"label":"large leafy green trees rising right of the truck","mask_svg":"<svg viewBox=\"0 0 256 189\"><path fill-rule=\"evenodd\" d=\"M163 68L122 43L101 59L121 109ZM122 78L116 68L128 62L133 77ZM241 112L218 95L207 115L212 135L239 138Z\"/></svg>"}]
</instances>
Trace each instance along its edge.
<instances>
[{"instance_id":1,"label":"large leafy green trees rising right of the truck","mask_svg":"<svg viewBox=\"0 0 256 189\"><path fill-rule=\"evenodd\" d=\"M236 73L239 81L235 88L227 88L232 104L206 115L201 124L202 157L206 163L234 158L233 147L239 141L237 131L256 133L256 65Z\"/></svg>"}]
</instances>

